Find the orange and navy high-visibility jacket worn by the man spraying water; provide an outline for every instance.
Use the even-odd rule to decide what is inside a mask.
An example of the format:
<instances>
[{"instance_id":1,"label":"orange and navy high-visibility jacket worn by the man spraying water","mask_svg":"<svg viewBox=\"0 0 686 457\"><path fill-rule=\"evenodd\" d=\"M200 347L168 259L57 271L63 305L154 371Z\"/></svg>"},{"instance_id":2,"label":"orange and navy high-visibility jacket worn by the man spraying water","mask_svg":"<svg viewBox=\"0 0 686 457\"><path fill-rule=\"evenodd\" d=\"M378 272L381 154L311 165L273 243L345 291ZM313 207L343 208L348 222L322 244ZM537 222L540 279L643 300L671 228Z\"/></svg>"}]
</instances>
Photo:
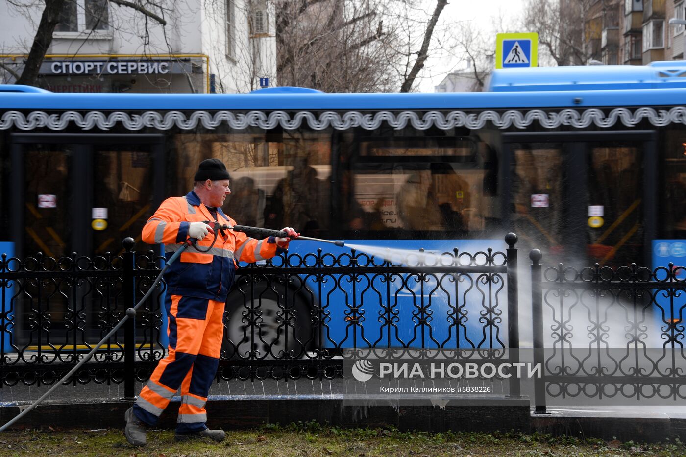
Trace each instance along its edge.
<instances>
[{"instance_id":1,"label":"orange and navy high-visibility jacket worn by the man spraying water","mask_svg":"<svg viewBox=\"0 0 686 457\"><path fill-rule=\"evenodd\" d=\"M236 222L221 208L217 208L217 222L233 226ZM188 239L191 222L213 220L209 210L200 202L194 191L185 197L167 198L143 226L143 241L165 245L165 257L180 249ZM214 239L208 234L198 241L198 247L206 250ZM233 284L236 261L255 262L270 259L285 249L276 246L276 239L250 238L245 233L224 231L217 234L217 241L207 253L189 246L180 259L165 272L167 294L196 296L209 300L226 301L228 289Z\"/></svg>"}]
</instances>

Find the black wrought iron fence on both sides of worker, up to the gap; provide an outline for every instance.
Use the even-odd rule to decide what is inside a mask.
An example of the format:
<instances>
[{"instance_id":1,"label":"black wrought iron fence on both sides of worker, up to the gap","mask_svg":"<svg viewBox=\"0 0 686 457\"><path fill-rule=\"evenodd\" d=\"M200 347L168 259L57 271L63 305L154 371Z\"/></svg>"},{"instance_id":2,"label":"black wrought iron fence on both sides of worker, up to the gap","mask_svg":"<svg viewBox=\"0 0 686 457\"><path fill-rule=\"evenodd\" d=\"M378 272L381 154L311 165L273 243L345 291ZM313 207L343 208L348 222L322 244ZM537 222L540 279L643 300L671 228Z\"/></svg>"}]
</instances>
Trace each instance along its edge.
<instances>
[{"instance_id":1,"label":"black wrought iron fence on both sides of worker, up to the gap","mask_svg":"<svg viewBox=\"0 0 686 457\"><path fill-rule=\"evenodd\" d=\"M390 349L484 349L516 362L490 351L519 347L517 236L506 243L506 252L318 250L241 265L217 379L332 379L344 358ZM134 253L130 238L123 245L121 256L2 257L0 387L53 384L145 294L163 259ZM165 355L164 294L161 283L71 382L123 382L132 397ZM519 393L514 379L510 392Z\"/></svg>"}]
</instances>

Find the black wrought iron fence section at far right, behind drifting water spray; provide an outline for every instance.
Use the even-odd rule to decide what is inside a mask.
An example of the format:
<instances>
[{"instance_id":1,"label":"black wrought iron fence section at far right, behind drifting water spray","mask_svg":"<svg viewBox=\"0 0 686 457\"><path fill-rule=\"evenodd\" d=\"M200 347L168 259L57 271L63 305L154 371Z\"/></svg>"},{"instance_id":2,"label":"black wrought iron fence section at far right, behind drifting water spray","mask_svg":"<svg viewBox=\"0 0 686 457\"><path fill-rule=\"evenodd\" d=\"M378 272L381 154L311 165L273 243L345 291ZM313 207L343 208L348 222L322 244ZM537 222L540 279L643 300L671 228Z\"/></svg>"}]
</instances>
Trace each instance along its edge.
<instances>
[{"instance_id":1,"label":"black wrought iron fence section at far right, behind drifting water spray","mask_svg":"<svg viewBox=\"0 0 686 457\"><path fill-rule=\"evenodd\" d=\"M536 412L546 397L686 399L686 268L543 272L532 250Z\"/></svg>"}]
</instances>

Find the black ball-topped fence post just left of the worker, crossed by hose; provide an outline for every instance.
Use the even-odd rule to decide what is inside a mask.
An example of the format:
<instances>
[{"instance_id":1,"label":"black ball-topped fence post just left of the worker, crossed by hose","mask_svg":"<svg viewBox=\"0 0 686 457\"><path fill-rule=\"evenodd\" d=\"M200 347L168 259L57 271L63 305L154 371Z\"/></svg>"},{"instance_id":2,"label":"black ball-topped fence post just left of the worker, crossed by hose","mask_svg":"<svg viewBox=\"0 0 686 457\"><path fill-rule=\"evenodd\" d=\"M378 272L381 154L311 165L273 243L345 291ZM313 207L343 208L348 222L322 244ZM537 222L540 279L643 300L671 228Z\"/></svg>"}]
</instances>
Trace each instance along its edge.
<instances>
[{"instance_id":1,"label":"black ball-topped fence post just left of the worker, crossed by hose","mask_svg":"<svg viewBox=\"0 0 686 457\"><path fill-rule=\"evenodd\" d=\"M136 279L134 269L136 268L136 253L133 246L136 242L133 238L124 238L121 246L126 252L123 255L123 297L124 309L132 308L136 305ZM136 373L134 362L136 361L136 318L129 318L124 323L124 398L134 398L134 384Z\"/></svg>"}]
</instances>

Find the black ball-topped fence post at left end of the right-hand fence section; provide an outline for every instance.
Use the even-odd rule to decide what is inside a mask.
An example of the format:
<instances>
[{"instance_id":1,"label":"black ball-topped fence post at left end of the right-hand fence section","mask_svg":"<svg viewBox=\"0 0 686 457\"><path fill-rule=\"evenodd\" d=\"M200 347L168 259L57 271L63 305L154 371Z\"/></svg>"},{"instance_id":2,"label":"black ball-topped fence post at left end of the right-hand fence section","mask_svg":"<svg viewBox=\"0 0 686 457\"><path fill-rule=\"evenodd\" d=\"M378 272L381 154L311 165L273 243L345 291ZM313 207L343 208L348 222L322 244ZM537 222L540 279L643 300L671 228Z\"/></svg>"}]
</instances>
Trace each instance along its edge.
<instances>
[{"instance_id":1,"label":"black ball-topped fence post at left end of the right-hand fence section","mask_svg":"<svg viewBox=\"0 0 686 457\"><path fill-rule=\"evenodd\" d=\"M535 414L545 414L545 356L543 354L543 288L541 283L542 266L539 262L543 257L541 251L532 249L531 259L531 318L534 339L534 366L541 367L541 377L534 378Z\"/></svg>"}]
</instances>

